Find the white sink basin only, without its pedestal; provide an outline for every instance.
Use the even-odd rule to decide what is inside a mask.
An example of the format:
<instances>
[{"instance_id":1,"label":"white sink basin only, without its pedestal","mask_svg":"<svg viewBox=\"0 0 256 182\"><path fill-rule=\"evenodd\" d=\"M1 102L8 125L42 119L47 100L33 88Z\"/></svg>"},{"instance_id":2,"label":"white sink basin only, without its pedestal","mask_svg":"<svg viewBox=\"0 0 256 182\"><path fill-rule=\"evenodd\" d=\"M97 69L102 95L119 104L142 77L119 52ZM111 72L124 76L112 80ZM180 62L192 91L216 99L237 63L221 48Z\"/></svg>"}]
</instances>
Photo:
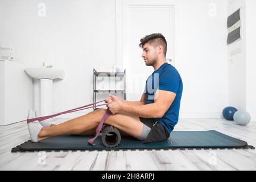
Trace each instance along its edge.
<instances>
[{"instance_id":1,"label":"white sink basin only, without its pedestal","mask_svg":"<svg viewBox=\"0 0 256 182\"><path fill-rule=\"evenodd\" d=\"M63 80L65 77L65 72L62 69L55 68L27 68L25 69L28 75L32 78L38 79L60 79Z\"/></svg>"}]
</instances>

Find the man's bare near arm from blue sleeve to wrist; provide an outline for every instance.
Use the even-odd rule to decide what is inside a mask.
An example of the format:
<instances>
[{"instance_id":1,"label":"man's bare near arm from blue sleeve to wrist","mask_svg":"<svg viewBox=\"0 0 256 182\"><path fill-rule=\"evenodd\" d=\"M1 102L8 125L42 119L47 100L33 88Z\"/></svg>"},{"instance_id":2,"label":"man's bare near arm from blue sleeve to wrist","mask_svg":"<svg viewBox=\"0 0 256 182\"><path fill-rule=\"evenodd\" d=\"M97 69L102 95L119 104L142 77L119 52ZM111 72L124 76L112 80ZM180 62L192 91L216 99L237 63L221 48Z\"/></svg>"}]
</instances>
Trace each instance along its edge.
<instances>
[{"instance_id":1,"label":"man's bare near arm from blue sleeve to wrist","mask_svg":"<svg viewBox=\"0 0 256 182\"><path fill-rule=\"evenodd\" d=\"M164 90L156 90L155 102L147 105L123 105L123 111L143 118L162 118L172 105L176 94Z\"/></svg>"}]
</instances>

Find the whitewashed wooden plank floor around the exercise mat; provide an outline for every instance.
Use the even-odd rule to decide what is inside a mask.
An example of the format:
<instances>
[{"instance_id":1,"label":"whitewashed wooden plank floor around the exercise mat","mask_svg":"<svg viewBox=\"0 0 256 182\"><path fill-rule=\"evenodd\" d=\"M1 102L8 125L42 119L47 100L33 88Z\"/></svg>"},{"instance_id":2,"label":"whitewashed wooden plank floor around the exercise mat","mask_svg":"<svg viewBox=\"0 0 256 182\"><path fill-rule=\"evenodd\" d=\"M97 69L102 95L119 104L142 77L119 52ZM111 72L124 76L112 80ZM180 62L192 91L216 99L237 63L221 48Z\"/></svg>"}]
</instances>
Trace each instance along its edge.
<instances>
[{"instance_id":1,"label":"whitewashed wooden plank floor around the exercise mat","mask_svg":"<svg viewBox=\"0 0 256 182\"><path fill-rule=\"evenodd\" d=\"M256 146L256 122L238 126L225 119L180 119L175 130L216 130ZM11 153L29 139L26 122L0 127L0 170L256 170L253 149Z\"/></svg>"}]
</instances>

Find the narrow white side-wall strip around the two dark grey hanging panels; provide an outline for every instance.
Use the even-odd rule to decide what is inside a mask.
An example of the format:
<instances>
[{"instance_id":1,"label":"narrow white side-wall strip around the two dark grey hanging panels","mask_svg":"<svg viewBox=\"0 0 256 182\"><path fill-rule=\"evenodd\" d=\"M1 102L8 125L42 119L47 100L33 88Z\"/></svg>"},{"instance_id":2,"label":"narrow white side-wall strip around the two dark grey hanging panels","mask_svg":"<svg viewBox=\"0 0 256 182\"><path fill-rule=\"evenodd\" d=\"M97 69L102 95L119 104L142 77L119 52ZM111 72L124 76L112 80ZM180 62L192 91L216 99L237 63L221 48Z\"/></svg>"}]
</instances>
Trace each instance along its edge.
<instances>
[{"instance_id":1,"label":"narrow white side-wall strip around the two dark grey hanging panels","mask_svg":"<svg viewBox=\"0 0 256 182\"><path fill-rule=\"evenodd\" d=\"M245 0L229 0L228 16L241 8L242 38L228 46L229 56L229 106L238 110L246 108L246 47L245 47ZM232 55L232 52L241 52Z\"/></svg>"}]
</instances>

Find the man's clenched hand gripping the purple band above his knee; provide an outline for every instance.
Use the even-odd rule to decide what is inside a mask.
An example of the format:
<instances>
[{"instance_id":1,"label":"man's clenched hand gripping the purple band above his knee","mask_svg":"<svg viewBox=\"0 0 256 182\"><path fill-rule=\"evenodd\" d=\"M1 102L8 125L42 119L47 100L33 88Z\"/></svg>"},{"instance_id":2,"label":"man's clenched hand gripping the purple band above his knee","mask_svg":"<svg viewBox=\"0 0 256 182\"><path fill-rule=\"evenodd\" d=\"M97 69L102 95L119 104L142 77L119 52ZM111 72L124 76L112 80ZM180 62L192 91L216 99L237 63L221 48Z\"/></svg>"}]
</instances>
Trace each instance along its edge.
<instances>
[{"instance_id":1,"label":"man's clenched hand gripping the purple band above his knee","mask_svg":"<svg viewBox=\"0 0 256 182\"><path fill-rule=\"evenodd\" d=\"M113 114L121 113L121 111L123 111L123 102L121 98L110 94L109 97L106 98L105 102L108 102L107 107L109 107L109 110Z\"/></svg>"}]
</instances>

